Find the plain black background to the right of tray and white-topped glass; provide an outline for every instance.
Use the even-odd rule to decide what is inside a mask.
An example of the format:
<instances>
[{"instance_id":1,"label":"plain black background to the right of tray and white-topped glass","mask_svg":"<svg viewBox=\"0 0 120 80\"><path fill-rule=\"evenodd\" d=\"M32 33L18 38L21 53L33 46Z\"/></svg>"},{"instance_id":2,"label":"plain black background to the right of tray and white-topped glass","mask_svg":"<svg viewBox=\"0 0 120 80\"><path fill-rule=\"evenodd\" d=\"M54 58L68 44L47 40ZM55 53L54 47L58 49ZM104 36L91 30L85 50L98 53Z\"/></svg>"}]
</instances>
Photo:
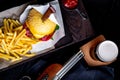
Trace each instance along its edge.
<instances>
[{"instance_id":1,"label":"plain black background to the right of tray and white-topped glass","mask_svg":"<svg viewBox=\"0 0 120 80\"><path fill-rule=\"evenodd\" d=\"M120 49L120 0L83 0L96 34L104 34L113 40ZM115 80L120 80L120 55L112 66L115 68Z\"/></svg>"}]
</instances>

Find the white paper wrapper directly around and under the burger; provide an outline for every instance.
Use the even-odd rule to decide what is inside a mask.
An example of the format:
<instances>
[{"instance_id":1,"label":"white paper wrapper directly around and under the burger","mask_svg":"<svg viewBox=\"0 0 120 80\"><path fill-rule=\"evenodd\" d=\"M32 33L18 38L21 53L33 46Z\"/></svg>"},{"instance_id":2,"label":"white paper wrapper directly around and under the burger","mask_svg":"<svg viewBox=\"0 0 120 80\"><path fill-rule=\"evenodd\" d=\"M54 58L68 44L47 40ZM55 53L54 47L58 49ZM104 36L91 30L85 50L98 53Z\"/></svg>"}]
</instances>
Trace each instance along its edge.
<instances>
[{"instance_id":1,"label":"white paper wrapper directly around and under the burger","mask_svg":"<svg viewBox=\"0 0 120 80\"><path fill-rule=\"evenodd\" d=\"M24 12L20 15L20 22L24 23L27 15L29 13L29 10L31 8L35 8L37 11L39 11L40 13L44 14L45 11L48 9L49 4L51 4L53 6L53 8L56 10L55 13L51 14L49 16L49 19L52 20L53 22L55 22L56 24L59 25L59 29L55 31L55 33L52 36L52 39L49 39L48 41L40 41L36 44L32 45L32 50L30 50L30 52L35 52L35 53L40 53L40 51L42 50L48 50L49 48L54 48L54 45L62 38L65 36L64 33L64 26L63 26L63 22L62 22L62 15L61 15L61 11L60 11L60 7L58 3L48 3L46 5L28 5L27 8L24 10Z\"/></svg>"}]
</instances>

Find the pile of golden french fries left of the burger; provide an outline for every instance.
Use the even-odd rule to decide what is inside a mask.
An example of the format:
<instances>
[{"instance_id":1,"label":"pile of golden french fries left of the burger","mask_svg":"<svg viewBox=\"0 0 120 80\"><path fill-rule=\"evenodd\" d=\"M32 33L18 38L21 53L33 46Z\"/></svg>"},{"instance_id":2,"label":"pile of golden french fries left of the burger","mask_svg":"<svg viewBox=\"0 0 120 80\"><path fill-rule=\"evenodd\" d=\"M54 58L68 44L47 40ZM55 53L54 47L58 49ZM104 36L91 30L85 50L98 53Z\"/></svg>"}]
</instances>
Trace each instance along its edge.
<instances>
[{"instance_id":1,"label":"pile of golden french fries left of the burger","mask_svg":"<svg viewBox=\"0 0 120 80\"><path fill-rule=\"evenodd\" d=\"M3 26L0 27L0 58L13 62L34 56L35 53L29 51L32 44L37 42L26 36L26 30L18 20L3 19Z\"/></svg>"}]
</instances>

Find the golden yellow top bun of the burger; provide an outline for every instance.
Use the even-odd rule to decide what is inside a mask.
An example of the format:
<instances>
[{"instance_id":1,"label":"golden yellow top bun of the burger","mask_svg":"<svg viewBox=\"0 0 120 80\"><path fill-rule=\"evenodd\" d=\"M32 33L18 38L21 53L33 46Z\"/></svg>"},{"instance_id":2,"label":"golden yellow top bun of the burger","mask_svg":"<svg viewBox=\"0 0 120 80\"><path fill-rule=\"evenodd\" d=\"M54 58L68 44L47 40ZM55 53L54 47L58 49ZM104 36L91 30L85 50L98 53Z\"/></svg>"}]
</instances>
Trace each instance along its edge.
<instances>
[{"instance_id":1,"label":"golden yellow top bun of the burger","mask_svg":"<svg viewBox=\"0 0 120 80\"><path fill-rule=\"evenodd\" d=\"M38 39L52 34L56 28L56 23L54 23L50 19L47 19L43 22L41 20L42 16L43 15L40 12L32 8L25 21L26 26L29 28L30 32L35 38Z\"/></svg>"}]
</instances>

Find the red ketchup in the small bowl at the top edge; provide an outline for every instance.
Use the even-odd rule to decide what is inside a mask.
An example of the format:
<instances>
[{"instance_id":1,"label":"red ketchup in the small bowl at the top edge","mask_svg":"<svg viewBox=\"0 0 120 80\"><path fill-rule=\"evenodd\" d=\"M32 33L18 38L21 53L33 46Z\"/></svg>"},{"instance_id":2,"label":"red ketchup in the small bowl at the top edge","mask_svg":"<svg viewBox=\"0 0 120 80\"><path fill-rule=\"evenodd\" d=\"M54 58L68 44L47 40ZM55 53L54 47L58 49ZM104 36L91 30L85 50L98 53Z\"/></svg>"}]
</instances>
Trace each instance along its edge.
<instances>
[{"instance_id":1,"label":"red ketchup in the small bowl at the top edge","mask_svg":"<svg viewBox=\"0 0 120 80\"><path fill-rule=\"evenodd\" d=\"M78 0L62 0L63 5L68 9L74 9L78 5Z\"/></svg>"}]
</instances>

